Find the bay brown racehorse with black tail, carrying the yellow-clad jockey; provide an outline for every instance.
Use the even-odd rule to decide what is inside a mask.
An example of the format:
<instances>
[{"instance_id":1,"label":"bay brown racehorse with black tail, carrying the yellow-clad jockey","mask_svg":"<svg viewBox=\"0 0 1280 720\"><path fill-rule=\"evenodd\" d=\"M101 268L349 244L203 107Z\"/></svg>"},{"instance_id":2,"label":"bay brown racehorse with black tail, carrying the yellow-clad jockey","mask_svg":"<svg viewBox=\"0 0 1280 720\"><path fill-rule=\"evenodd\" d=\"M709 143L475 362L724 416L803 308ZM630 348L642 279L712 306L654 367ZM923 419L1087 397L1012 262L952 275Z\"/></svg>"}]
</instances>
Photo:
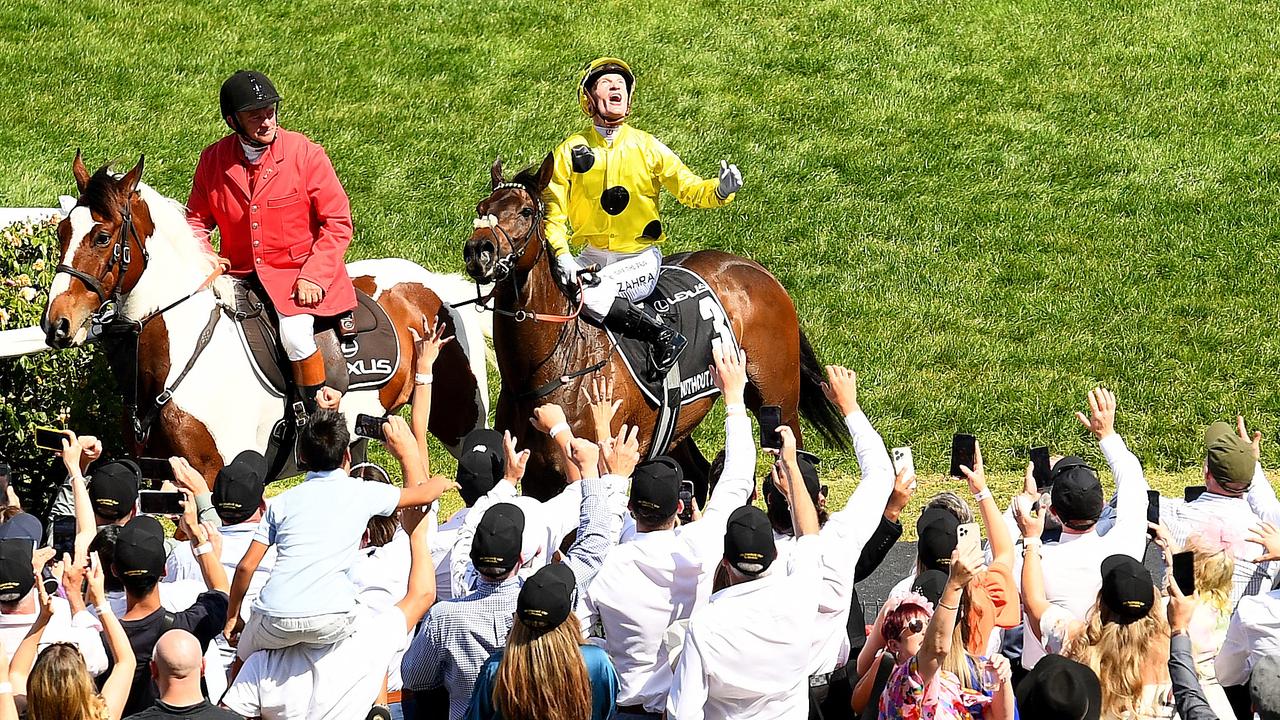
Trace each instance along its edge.
<instances>
[{"instance_id":1,"label":"bay brown racehorse with black tail, carrying the yellow-clad jockey","mask_svg":"<svg viewBox=\"0 0 1280 720\"><path fill-rule=\"evenodd\" d=\"M536 405L556 402L564 409L575 434L590 437L590 414L579 401L580 388L590 378L572 377L575 372L603 365L600 372L614 379L616 400L622 401L613 429L617 432L621 423L637 425L641 452L649 450L658 413L631 380L608 336L576 316L573 304L554 281L541 200L552 167L548 155L540 168L526 169L508 182L502 160L494 161L492 192L476 206L479 217L488 220L476 223L463 249L467 274L476 283L495 283L493 341L502 374L495 425L512 432L521 447L531 450L525 474L527 492L544 497L559 489L563 468L552 443L532 430L529 418ZM781 406L782 421L791 427L797 441L803 415L828 442L847 445L840 411L822 391L822 366L800 329L791 297L777 278L751 260L714 250L667 258L666 263L700 275L723 304L732 331L746 350L748 407L758 414L762 405ZM539 322L543 319L539 315L554 318ZM567 379L559 383L557 378ZM534 389L557 384L557 389L541 397ZM667 448L704 498L709 465L690 433L714 401L710 396L681 407L672 446Z\"/></svg>"}]
</instances>

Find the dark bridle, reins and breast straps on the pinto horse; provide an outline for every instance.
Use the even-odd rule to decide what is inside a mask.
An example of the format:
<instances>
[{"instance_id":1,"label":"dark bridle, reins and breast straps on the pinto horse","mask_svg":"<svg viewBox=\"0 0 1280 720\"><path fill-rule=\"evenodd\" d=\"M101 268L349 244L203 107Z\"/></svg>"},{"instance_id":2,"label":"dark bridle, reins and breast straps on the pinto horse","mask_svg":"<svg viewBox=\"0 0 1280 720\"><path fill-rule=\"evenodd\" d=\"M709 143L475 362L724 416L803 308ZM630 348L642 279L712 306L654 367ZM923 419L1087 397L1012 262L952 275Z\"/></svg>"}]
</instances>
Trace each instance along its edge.
<instances>
[{"instance_id":1,"label":"dark bridle, reins and breast straps on the pinto horse","mask_svg":"<svg viewBox=\"0 0 1280 720\"><path fill-rule=\"evenodd\" d=\"M129 195L129 197L132 197L132 193ZM174 382L168 387L165 387L164 392L156 396L151 409L148 409L141 416L138 415L138 338L141 337L143 328L146 328L147 323L150 323L152 319L164 315L169 310L173 310L178 305L182 305L183 302L200 295L205 290L209 290L209 287L214 284L214 281L216 281L223 273L227 272L229 264L227 263L225 259L219 258L218 263L215 263L214 265L214 270L209 273L209 277L206 277L205 281L200 283L200 287L197 287L196 290L191 291L183 297L179 297L178 300L174 300L169 305L160 307L159 310L147 313L146 315L143 315L137 320L131 320L125 318L123 314L120 314L120 307L124 302L124 293L128 292L124 290L124 277L129 273L129 264L133 261L132 258L133 254L129 250L131 242L137 243L138 250L142 251L143 273L147 270L147 260L150 259L147 247L138 237L138 229L133 224L133 209L132 205L129 204L129 197L125 197L124 208L120 210L119 238L111 247L111 261L106 265L106 269L102 270L102 274L95 278L88 273L83 273L65 264L59 264L55 268L54 274L67 273L73 278L84 283L84 287L92 290L93 293L97 295L100 302L97 310L93 311L90 319L91 322L102 325L105 333L132 336L133 342L127 343L127 346L132 350L132 352L129 352L129 355L127 355L124 360L128 363L128 369L132 370L131 374L133 377L129 378L131 380L128 383L129 389L125 392L124 411L129 416L131 420L129 424L133 427L134 441L138 445L138 448L141 450L142 443L146 442L147 436L151 432L151 424L155 423L156 418L160 415L160 409L164 407L170 398L173 398L174 391L178 389L178 386L182 383L182 380L187 377L187 373L189 373L192 366L196 364L196 359L200 357L200 355L205 351L205 347L207 347L209 342L212 340L214 327L218 324L218 319L221 316L221 313L219 311L221 306L219 304L214 305L214 310L210 313L209 320L205 323L205 328L204 331L201 331L200 337L196 341L196 350L191 354L191 357L187 360L187 365L182 369L180 373L178 373L178 377L174 378ZM115 283L113 283L111 286L110 296L108 296L108 293L102 290L102 281L116 266L119 266L119 274L115 278Z\"/></svg>"}]
</instances>

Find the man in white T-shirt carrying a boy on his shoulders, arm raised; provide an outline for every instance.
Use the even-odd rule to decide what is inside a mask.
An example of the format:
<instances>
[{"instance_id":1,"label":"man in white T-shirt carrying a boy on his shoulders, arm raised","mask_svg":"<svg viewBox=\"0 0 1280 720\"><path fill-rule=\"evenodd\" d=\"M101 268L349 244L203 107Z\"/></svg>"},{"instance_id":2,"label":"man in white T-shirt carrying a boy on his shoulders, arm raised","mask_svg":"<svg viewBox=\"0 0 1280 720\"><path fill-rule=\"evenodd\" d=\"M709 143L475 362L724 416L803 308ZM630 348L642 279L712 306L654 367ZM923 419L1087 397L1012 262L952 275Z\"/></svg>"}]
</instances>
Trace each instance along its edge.
<instances>
[{"instance_id":1,"label":"man in white T-shirt carrying a boy on his shoulders, arm raised","mask_svg":"<svg viewBox=\"0 0 1280 720\"><path fill-rule=\"evenodd\" d=\"M365 717L381 692L390 657L435 601L430 525L404 510L412 564L408 591L394 606L355 614L352 632L330 647L293 646L250 656L223 697L223 706L264 720Z\"/></svg>"}]
</instances>

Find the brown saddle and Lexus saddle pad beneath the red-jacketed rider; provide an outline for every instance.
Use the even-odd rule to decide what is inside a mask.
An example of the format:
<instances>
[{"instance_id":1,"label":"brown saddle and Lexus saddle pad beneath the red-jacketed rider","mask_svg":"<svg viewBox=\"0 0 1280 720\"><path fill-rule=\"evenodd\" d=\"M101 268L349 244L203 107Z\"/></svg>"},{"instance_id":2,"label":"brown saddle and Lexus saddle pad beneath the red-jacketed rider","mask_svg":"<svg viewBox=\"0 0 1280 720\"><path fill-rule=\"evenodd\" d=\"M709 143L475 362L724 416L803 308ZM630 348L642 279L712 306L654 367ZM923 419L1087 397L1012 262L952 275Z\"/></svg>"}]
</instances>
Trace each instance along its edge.
<instances>
[{"instance_id":1,"label":"brown saddle and Lexus saddle pad beneath the red-jacketed rider","mask_svg":"<svg viewBox=\"0 0 1280 720\"><path fill-rule=\"evenodd\" d=\"M280 397L289 396L293 375L280 346L279 322L270 297L256 283L236 283L236 319L259 382ZM316 346L324 356L325 384L343 393L383 387L401 364L399 338L390 316L360 290L349 314L316 318Z\"/></svg>"}]
</instances>

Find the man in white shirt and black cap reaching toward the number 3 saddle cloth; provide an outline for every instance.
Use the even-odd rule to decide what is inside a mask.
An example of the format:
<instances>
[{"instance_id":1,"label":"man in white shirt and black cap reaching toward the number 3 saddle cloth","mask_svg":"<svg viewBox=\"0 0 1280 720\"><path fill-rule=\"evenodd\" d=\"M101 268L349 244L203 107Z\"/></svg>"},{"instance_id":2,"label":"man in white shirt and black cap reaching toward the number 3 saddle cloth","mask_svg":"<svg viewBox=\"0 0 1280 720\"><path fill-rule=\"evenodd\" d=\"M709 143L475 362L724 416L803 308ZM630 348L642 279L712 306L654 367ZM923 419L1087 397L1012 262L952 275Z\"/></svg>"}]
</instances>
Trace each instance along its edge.
<instances>
[{"instance_id":1,"label":"man in white shirt and black cap reaching toward the number 3 saddle cloth","mask_svg":"<svg viewBox=\"0 0 1280 720\"><path fill-rule=\"evenodd\" d=\"M584 625L618 674L618 720L660 717L671 691L662 638L710 596L724 556L730 514L755 488L755 439L746 415L746 354L713 350L712 378L724 396L724 469L696 523L676 527L680 466L659 457L636 465L630 510L636 537L613 548L585 597Z\"/></svg>"}]
</instances>

